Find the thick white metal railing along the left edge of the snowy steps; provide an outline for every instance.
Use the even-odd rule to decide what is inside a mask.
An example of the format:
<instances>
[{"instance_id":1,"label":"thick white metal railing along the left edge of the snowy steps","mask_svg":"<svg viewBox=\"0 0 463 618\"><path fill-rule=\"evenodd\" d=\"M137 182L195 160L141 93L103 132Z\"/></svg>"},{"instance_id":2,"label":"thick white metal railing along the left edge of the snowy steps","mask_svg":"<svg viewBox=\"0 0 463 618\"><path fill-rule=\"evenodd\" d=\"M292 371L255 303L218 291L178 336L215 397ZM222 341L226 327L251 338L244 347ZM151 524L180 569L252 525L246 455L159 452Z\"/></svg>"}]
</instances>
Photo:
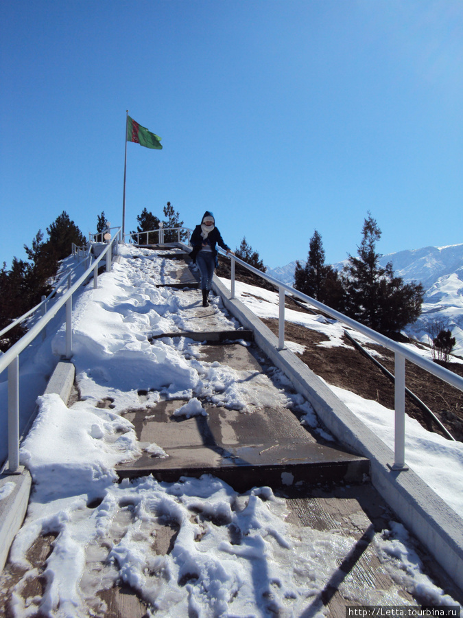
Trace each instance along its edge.
<instances>
[{"instance_id":1,"label":"thick white metal railing along the left edge of the snowy steps","mask_svg":"<svg viewBox=\"0 0 463 618\"><path fill-rule=\"evenodd\" d=\"M8 472L14 474L19 468L19 354L34 341L36 336L43 332L51 319L55 317L62 306L66 306L66 353L67 359L71 358L72 347L72 301L73 294L86 283L88 277L93 274L93 287L98 286L98 266L103 259L106 260L106 272L112 268L113 247L121 239L121 229L108 242L102 253L92 262L84 274L72 285L66 293L58 299L54 305L41 317L32 328L5 354L0 356L0 374L8 369ZM69 273L67 275L69 277Z\"/></svg>"}]
</instances>

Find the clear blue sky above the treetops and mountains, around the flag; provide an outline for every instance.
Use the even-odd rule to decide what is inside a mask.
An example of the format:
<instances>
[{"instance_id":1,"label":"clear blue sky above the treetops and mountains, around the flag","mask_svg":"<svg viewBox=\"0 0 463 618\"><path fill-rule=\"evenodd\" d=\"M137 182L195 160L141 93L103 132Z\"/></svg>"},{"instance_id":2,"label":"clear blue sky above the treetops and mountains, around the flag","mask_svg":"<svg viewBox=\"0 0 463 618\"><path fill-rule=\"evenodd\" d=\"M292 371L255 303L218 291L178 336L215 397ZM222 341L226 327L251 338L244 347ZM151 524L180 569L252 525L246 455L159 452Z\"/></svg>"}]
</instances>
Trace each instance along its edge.
<instances>
[{"instance_id":1,"label":"clear blue sky above the treetops and mountains, around the flag","mask_svg":"<svg viewBox=\"0 0 463 618\"><path fill-rule=\"evenodd\" d=\"M268 266L463 242L462 0L2 0L0 265L63 211L213 210Z\"/></svg>"}]
</instances>

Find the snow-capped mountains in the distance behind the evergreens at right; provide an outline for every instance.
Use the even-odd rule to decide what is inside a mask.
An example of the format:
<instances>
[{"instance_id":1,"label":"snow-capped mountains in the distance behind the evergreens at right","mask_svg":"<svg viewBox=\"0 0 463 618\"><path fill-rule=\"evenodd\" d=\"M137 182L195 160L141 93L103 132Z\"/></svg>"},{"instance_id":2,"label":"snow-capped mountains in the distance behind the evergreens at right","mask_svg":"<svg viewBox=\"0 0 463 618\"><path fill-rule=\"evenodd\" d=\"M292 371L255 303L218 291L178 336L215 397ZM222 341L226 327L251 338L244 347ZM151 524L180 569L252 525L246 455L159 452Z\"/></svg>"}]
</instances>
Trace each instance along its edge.
<instances>
[{"instance_id":1,"label":"snow-capped mountains in the distance behind the evergreens at right","mask_svg":"<svg viewBox=\"0 0 463 618\"><path fill-rule=\"evenodd\" d=\"M301 261L302 262L302 261ZM454 354L463 356L463 244L449 247L423 247L383 255L381 266L392 262L394 273L407 283L421 282L425 288L423 312L406 332L419 341L429 343L429 325L438 321L451 330L457 343ZM272 277L292 285L296 262L268 268ZM344 262L333 264L340 270Z\"/></svg>"}]
</instances>

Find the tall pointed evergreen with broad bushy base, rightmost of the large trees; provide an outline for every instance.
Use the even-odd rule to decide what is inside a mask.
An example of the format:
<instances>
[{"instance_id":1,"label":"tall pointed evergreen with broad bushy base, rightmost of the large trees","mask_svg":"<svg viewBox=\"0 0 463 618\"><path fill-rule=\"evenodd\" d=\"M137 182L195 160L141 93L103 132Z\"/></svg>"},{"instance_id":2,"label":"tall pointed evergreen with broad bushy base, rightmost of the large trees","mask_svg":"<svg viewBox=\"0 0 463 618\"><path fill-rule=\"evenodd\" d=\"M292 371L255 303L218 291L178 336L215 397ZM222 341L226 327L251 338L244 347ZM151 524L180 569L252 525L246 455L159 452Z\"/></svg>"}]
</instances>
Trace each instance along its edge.
<instances>
[{"instance_id":1,"label":"tall pointed evergreen with broad bushy base, rightmost of the large trees","mask_svg":"<svg viewBox=\"0 0 463 618\"><path fill-rule=\"evenodd\" d=\"M399 332L416 321L423 302L421 284L404 284L394 275L392 264L379 265L376 244L381 238L377 222L368 213L362 229L357 258L349 255L342 271L346 314L383 333Z\"/></svg>"}]
</instances>

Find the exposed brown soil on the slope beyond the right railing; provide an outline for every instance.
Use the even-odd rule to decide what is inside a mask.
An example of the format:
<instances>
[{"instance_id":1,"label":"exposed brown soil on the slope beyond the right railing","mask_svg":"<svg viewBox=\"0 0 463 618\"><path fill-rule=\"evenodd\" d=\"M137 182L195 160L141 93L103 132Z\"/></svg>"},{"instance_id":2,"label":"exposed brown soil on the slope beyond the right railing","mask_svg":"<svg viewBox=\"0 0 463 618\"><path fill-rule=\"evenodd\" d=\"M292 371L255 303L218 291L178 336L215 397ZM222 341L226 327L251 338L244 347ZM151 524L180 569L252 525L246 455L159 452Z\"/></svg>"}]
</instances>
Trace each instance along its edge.
<instances>
[{"instance_id":1,"label":"exposed brown soil on the slope beyond the right railing","mask_svg":"<svg viewBox=\"0 0 463 618\"><path fill-rule=\"evenodd\" d=\"M228 273L222 267L217 274L222 277L229 277L229 267ZM264 287L263 283L265 283L263 279L249 271L246 271L242 276L238 268L236 278L239 281L259 287ZM274 289L269 284L265 287ZM306 311L289 297L286 297L285 306L297 311ZM263 319L263 322L278 336L277 319ZM393 382L370 359L356 350L346 337L344 337L344 343L350 347L322 347L318 344L327 341L326 336L286 321L285 340L303 345L305 352L298 356L315 374L321 376L329 384L348 389L364 399L375 400L385 407L394 409ZM378 358L381 365L388 369L391 374L394 374L394 354L392 352L376 344L369 345L367 349L377 350L381 354L381 358ZM463 365L447 363L444 366L454 371L455 374L463 376ZM462 391L451 387L451 385L432 376L420 367L416 367L413 363L409 363L409 361L405 362L405 376L407 389L412 391L434 412L455 439L463 441ZM445 435L439 425L409 396L405 397L405 411L409 416L418 420L428 431Z\"/></svg>"}]
</instances>

